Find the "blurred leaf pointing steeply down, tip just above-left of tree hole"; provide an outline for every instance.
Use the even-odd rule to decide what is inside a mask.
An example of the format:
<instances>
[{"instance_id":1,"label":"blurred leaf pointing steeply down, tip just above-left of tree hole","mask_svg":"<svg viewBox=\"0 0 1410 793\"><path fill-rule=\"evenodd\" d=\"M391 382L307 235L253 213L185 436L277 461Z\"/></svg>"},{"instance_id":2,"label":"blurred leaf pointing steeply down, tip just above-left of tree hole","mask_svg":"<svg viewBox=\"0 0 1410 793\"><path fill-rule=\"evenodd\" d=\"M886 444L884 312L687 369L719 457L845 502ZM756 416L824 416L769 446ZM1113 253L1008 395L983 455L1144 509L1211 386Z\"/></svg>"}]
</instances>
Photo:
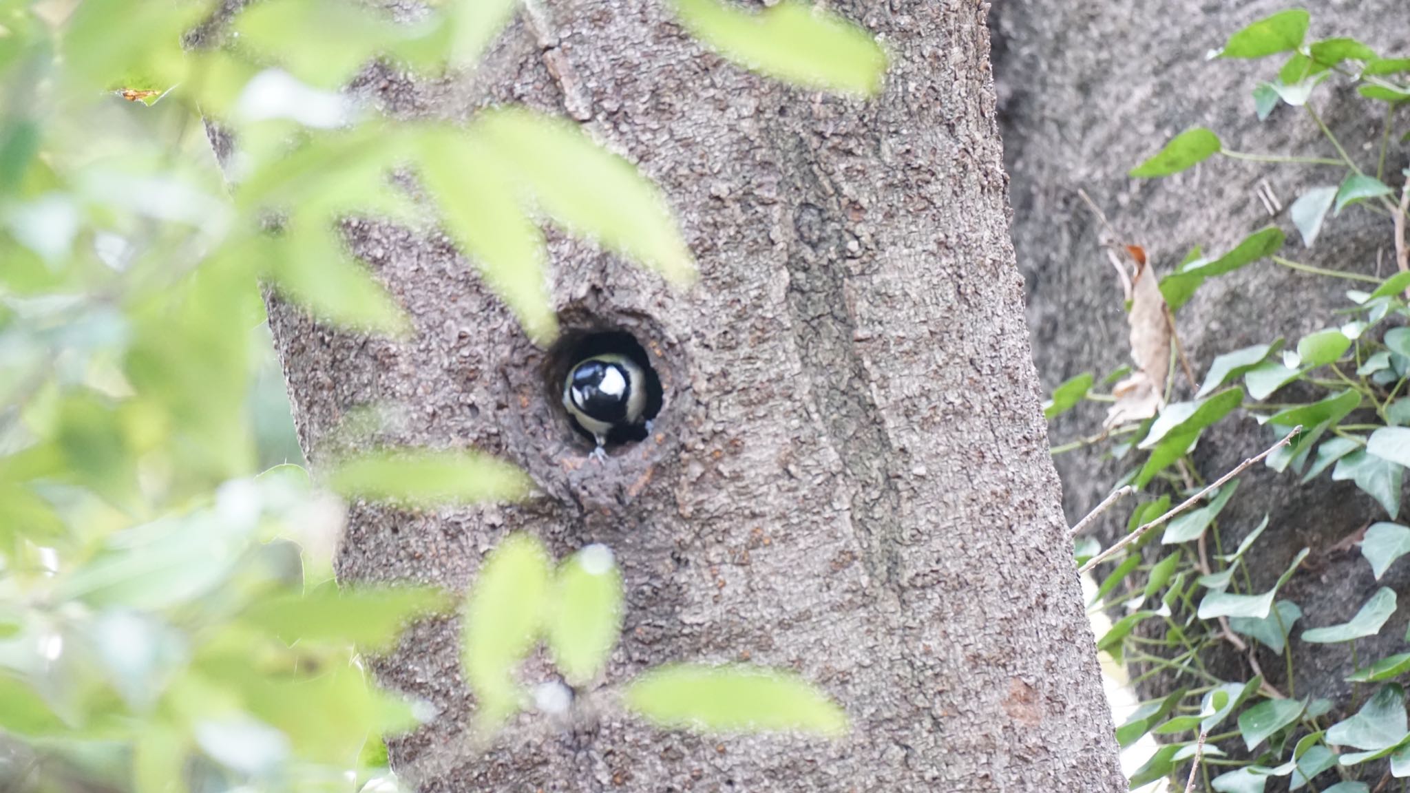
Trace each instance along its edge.
<instances>
[{"instance_id":1,"label":"blurred leaf pointing steeply down, tip just above-left of tree hole","mask_svg":"<svg viewBox=\"0 0 1410 793\"><path fill-rule=\"evenodd\" d=\"M462 131L427 134L419 152L422 178L451 238L525 333L539 344L551 341L558 319L548 299L548 248L517 203L510 169L479 135Z\"/></svg>"}]
</instances>

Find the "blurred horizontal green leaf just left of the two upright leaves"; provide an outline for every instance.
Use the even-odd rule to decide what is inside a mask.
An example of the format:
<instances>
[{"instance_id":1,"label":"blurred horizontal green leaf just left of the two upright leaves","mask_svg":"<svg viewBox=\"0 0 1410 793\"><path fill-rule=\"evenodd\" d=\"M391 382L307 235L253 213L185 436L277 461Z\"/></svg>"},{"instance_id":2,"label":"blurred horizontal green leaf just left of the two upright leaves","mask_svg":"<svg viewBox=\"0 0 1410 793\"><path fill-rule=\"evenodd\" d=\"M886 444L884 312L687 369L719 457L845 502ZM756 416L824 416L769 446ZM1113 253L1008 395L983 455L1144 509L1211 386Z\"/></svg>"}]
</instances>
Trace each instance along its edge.
<instances>
[{"instance_id":1,"label":"blurred horizontal green leaf just left of the two upright leaves","mask_svg":"<svg viewBox=\"0 0 1410 793\"><path fill-rule=\"evenodd\" d=\"M446 603L440 590L423 587L355 587L331 583L307 594L278 594L251 604L241 621L286 642L347 642L388 649L406 622Z\"/></svg>"}]
</instances>

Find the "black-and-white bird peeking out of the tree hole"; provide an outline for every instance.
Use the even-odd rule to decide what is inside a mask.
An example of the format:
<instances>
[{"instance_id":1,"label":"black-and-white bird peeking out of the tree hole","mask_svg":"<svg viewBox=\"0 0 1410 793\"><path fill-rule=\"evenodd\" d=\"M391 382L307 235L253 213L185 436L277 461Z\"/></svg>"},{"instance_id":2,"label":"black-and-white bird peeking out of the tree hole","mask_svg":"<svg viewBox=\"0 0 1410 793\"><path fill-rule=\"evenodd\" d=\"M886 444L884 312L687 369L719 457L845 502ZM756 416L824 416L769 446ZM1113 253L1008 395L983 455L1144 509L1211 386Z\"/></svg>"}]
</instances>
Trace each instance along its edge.
<instances>
[{"instance_id":1,"label":"black-and-white bird peeking out of the tree hole","mask_svg":"<svg viewBox=\"0 0 1410 793\"><path fill-rule=\"evenodd\" d=\"M626 356L605 353L578 361L563 384L563 406L598 442L596 460L606 459L608 439L622 429L646 426L647 384L642 367Z\"/></svg>"}]
</instances>

